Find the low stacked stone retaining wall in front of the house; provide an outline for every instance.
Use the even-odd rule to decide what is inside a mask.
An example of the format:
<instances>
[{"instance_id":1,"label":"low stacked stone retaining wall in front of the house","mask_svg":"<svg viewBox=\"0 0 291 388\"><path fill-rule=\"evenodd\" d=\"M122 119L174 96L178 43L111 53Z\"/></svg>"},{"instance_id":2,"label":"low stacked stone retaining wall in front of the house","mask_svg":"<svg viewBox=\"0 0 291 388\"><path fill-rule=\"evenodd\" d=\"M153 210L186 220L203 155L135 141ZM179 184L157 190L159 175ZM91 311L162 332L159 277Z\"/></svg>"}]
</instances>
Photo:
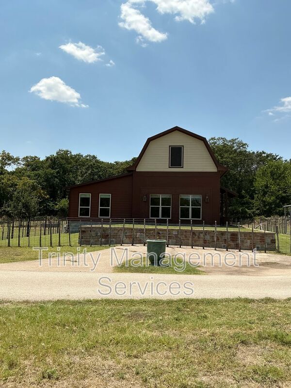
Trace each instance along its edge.
<instances>
[{"instance_id":1,"label":"low stacked stone retaining wall in front of the house","mask_svg":"<svg viewBox=\"0 0 291 388\"><path fill-rule=\"evenodd\" d=\"M262 250L276 250L275 233L272 232L255 232L253 234L254 241L252 241L252 232L240 232L240 245L243 250L252 250L257 248ZM204 237L204 238L203 238ZM146 228L146 236L144 228L135 227L132 236L132 227L111 227L108 226L81 226L79 230L79 243L81 239L82 245L119 245L121 240L123 244L143 244L148 239L167 240L167 229ZM191 246L193 239L193 246L205 246L206 248L214 248L215 246L215 232L214 230L193 229L193 236L191 236L191 229L168 229L168 244ZM266 242L265 242L266 239ZM228 240L228 243L227 243ZM217 230L216 246L217 248L226 248L228 244L229 249L239 249L239 232L229 231L228 237L226 231Z\"/></svg>"}]
</instances>

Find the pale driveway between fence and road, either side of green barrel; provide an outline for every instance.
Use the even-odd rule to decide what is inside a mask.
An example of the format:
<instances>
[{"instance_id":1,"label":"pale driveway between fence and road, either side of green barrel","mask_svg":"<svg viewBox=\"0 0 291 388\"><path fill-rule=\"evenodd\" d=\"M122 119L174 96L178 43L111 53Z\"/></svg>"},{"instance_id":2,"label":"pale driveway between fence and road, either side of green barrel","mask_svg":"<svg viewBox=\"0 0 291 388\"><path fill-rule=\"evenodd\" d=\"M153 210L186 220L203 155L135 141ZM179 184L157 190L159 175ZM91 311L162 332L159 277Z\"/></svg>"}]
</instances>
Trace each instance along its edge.
<instances>
[{"instance_id":1,"label":"pale driveway between fence and road, either side of green barrel","mask_svg":"<svg viewBox=\"0 0 291 388\"><path fill-rule=\"evenodd\" d=\"M114 250L113 250L114 249ZM85 256L61 255L59 259L39 260L0 264L0 271L41 271L41 272L113 272L114 265L122 260L128 250L128 258L146 255L143 245L116 246L103 251L87 253ZM202 248L169 247L167 253L178 254L178 258L185 258L191 263L198 264L199 269L208 275L251 275L273 276L291 274L291 257L270 253L256 253L249 251L228 251ZM68 247L69 252L69 247ZM113 258L113 260L111 259ZM123 257L123 259L125 256Z\"/></svg>"}]
</instances>

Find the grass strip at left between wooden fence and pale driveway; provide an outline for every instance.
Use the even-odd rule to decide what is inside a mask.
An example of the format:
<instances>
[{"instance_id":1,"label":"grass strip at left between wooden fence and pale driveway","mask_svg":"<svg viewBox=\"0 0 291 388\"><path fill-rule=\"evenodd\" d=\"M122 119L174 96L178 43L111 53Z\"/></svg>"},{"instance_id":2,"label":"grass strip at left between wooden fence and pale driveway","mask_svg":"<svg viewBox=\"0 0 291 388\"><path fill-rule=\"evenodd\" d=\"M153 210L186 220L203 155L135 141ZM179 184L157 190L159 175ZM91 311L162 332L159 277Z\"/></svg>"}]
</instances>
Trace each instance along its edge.
<instances>
[{"instance_id":1,"label":"grass strip at left between wooden fence and pale driveway","mask_svg":"<svg viewBox=\"0 0 291 388\"><path fill-rule=\"evenodd\" d=\"M79 247L80 252L83 251L85 247ZM102 249L109 248L108 246L86 246L87 252L99 251ZM61 246L60 250L57 251L57 247L49 247L47 251L42 251L43 259L49 257L50 252L60 252L62 255L64 252L71 252L74 255L78 253L77 246ZM2 247L0 248L0 263L13 263L16 261L27 261L27 260L37 260L38 251L33 251L32 248L28 247Z\"/></svg>"}]
</instances>

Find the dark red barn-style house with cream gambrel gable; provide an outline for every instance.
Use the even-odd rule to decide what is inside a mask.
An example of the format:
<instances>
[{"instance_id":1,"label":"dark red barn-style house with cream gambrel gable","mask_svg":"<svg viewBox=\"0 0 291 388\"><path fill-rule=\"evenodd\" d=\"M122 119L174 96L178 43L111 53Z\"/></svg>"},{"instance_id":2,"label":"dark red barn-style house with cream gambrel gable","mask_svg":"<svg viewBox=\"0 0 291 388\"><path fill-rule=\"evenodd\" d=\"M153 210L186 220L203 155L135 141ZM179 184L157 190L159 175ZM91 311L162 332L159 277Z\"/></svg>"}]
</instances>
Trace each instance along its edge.
<instances>
[{"instance_id":1,"label":"dark red barn-style house with cream gambrel gable","mask_svg":"<svg viewBox=\"0 0 291 388\"><path fill-rule=\"evenodd\" d=\"M206 138L174 127L148 138L126 174L68 187L69 218L219 224L221 194L234 194L220 186L226 171Z\"/></svg>"}]
</instances>

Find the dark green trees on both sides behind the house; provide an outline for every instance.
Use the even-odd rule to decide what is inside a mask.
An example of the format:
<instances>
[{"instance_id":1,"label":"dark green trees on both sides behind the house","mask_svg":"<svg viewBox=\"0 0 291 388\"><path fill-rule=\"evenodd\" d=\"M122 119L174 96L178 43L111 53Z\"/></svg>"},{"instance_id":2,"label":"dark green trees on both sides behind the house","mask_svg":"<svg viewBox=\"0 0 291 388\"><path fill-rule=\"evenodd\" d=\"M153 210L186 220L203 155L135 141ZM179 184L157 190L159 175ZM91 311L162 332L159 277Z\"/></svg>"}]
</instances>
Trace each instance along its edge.
<instances>
[{"instance_id":1,"label":"dark green trees on both sides behind the house","mask_svg":"<svg viewBox=\"0 0 291 388\"><path fill-rule=\"evenodd\" d=\"M283 206L291 204L291 160L265 151L251 151L238 138L213 137L209 143L218 161L228 167L221 184L238 194L230 202L231 217L283 214ZM64 149L44 159L19 158L2 151L0 215L65 217L66 186L123 174L135 160L103 162L95 155L73 154Z\"/></svg>"}]
</instances>

